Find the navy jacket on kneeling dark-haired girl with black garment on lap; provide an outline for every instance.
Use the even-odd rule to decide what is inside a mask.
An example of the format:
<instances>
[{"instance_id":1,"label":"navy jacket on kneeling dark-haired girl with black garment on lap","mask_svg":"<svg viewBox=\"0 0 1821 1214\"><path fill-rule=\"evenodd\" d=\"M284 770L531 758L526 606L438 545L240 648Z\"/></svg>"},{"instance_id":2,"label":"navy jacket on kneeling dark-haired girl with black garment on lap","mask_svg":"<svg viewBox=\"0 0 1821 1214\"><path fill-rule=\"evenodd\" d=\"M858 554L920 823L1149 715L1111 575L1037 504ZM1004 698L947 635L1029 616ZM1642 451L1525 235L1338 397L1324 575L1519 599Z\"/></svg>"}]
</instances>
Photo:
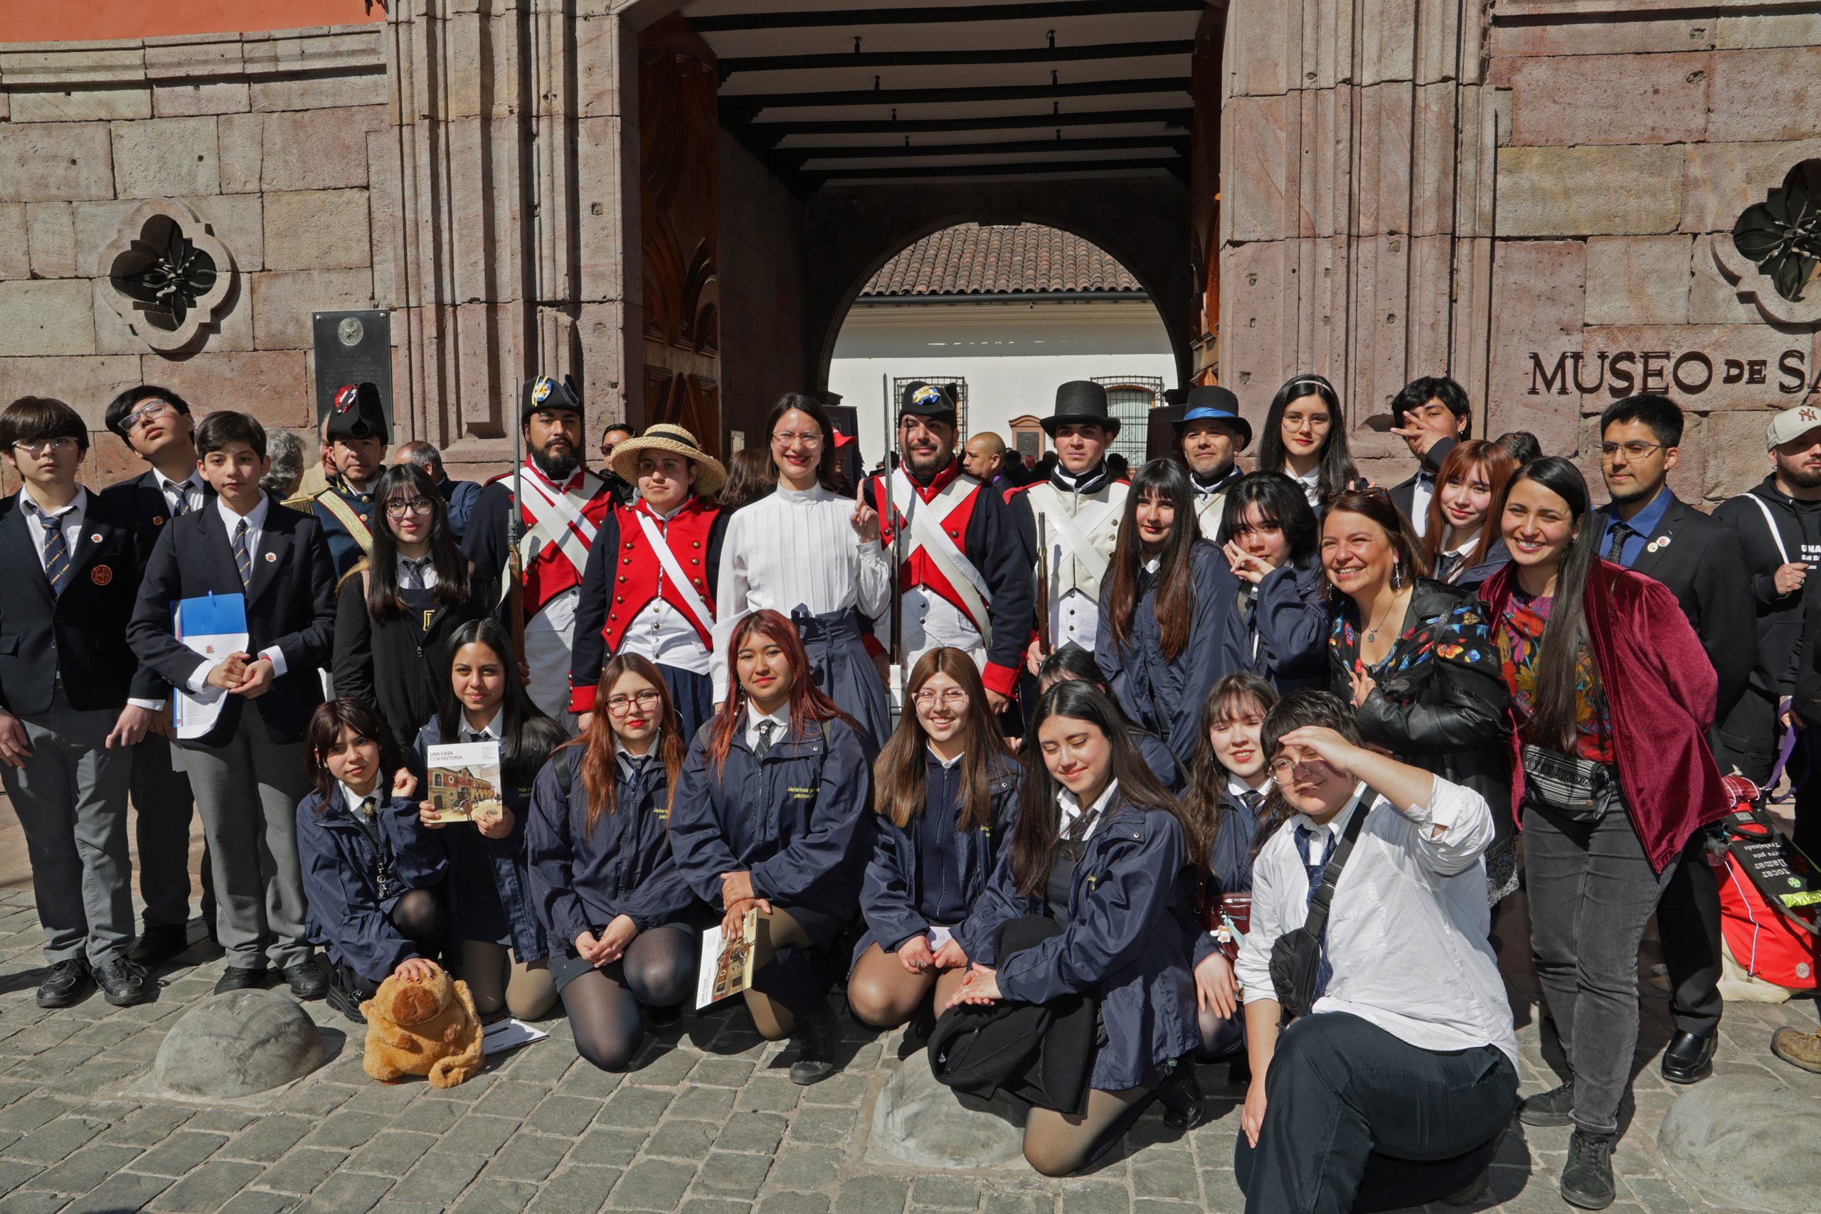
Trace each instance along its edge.
<instances>
[{"instance_id":1,"label":"navy jacket on kneeling dark-haired girl with black garment on lap","mask_svg":"<svg viewBox=\"0 0 1821 1214\"><path fill-rule=\"evenodd\" d=\"M1107 1039L1089 1083L1120 1092L1155 1087L1162 1067L1195 1050L1202 1032L1187 950L1195 874L1182 825L1169 810L1134 804L1109 806L1107 814L1082 848L1062 936L1003 963L992 957L1002 923L1043 914L1042 899L1023 897L1012 885L1012 850L1005 848L967 919L961 948L998 968L1007 999L1049 1003L1096 992Z\"/></svg>"}]
</instances>

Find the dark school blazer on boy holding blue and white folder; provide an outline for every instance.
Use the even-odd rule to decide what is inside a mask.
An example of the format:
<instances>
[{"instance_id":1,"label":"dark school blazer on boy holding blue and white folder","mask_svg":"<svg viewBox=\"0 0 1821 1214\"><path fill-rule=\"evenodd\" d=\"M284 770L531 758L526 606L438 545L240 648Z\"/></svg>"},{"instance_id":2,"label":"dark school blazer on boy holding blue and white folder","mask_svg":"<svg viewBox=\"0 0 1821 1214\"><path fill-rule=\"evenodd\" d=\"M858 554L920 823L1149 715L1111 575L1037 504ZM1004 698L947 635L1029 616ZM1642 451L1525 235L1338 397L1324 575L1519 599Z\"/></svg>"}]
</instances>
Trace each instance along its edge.
<instances>
[{"instance_id":1,"label":"dark school blazer on boy holding blue and white folder","mask_svg":"<svg viewBox=\"0 0 1821 1214\"><path fill-rule=\"evenodd\" d=\"M335 635L335 566L322 528L310 515L270 502L253 581L242 590L228 528L213 502L164 524L146 562L126 639L171 686L188 686L202 663L171 633L171 608L178 599L211 592L246 595L248 652L275 644L284 652L286 670L259 699L228 695L215 728L178 744L224 746L242 712L257 712L273 743L302 741L310 713L322 703L317 668L328 664Z\"/></svg>"}]
</instances>

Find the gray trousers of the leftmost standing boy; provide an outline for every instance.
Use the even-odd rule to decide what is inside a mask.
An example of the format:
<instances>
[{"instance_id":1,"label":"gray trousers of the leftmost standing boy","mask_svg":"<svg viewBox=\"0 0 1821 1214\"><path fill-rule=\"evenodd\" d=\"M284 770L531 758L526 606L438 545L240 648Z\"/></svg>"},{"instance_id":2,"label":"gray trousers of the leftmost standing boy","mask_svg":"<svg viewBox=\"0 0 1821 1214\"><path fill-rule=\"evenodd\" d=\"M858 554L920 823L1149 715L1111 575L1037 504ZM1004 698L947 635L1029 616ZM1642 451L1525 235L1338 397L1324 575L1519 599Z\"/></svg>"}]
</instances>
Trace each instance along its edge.
<instances>
[{"instance_id":1,"label":"gray trousers of the leftmost standing boy","mask_svg":"<svg viewBox=\"0 0 1821 1214\"><path fill-rule=\"evenodd\" d=\"M133 943L133 861L126 846L126 786L133 755L107 750L120 712L76 712L56 688L49 712L22 717L31 757L0 766L25 832L44 959L100 965Z\"/></svg>"}]
</instances>

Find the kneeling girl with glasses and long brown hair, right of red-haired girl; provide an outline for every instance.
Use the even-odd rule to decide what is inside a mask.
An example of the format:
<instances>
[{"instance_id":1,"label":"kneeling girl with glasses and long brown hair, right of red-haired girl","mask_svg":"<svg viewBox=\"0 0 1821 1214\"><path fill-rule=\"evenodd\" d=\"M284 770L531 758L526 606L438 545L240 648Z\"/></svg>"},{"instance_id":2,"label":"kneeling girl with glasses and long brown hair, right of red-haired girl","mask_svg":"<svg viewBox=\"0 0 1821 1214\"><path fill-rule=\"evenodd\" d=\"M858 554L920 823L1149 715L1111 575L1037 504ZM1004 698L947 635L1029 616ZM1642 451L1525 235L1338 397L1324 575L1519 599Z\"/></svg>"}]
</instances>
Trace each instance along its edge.
<instances>
[{"instance_id":1,"label":"kneeling girl with glasses and long brown hair, right of red-haired girl","mask_svg":"<svg viewBox=\"0 0 1821 1214\"><path fill-rule=\"evenodd\" d=\"M961 921L1018 821L1022 770L961 650L910 668L903 713L872 764L878 843L860 886L867 936L854 950L854 1019L896 1028L941 1008L967 974Z\"/></svg>"}]
</instances>

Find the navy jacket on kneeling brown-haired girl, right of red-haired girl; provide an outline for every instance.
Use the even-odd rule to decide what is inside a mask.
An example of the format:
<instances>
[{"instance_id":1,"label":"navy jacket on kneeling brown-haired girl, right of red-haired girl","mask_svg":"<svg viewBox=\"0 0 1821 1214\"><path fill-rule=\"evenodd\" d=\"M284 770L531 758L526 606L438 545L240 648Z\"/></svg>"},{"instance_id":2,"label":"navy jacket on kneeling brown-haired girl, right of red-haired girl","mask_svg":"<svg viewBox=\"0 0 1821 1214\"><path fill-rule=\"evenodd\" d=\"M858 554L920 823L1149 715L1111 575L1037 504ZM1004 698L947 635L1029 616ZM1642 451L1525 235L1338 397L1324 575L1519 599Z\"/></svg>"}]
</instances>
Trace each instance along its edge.
<instances>
[{"instance_id":1,"label":"navy jacket on kneeling brown-haired girl, right of red-haired girl","mask_svg":"<svg viewBox=\"0 0 1821 1214\"><path fill-rule=\"evenodd\" d=\"M954 823L961 814L960 764L945 772L941 761L927 750L925 759L929 766L923 783L923 814L941 823ZM860 883L860 910L867 919L867 934L854 948L856 963L874 943L885 952L898 952L898 946L912 936L929 932L931 925L918 905L918 892L931 883L945 881L951 888L958 888L969 908L987 888L1000 852L1012 839L1012 826L1018 823L1018 794L1023 788L1023 768L1016 761L1007 757L996 768L987 784L992 795L991 825L978 830L954 830L958 872L923 872L925 857L923 848L918 846L918 832L927 828L925 823L912 821L907 826L898 826L883 814L878 815L878 841L872 846L872 859L867 863L867 875Z\"/></svg>"}]
</instances>

